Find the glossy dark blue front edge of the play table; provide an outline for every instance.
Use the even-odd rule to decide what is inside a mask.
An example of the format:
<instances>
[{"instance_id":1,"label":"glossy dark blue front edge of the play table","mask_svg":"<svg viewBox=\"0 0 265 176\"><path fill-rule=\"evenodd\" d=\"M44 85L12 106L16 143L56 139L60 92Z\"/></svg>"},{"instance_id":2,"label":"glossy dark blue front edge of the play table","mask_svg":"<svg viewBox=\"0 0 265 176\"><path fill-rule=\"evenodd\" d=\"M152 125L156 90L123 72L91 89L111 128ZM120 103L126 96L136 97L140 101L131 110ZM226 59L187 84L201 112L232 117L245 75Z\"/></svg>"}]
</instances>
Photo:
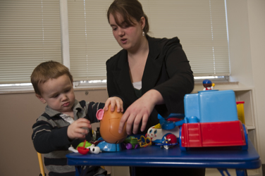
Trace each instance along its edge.
<instances>
[{"instance_id":1,"label":"glossy dark blue front edge of the play table","mask_svg":"<svg viewBox=\"0 0 265 176\"><path fill-rule=\"evenodd\" d=\"M249 158L237 158L234 160L213 160L212 158L190 158L182 159L166 159L159 160L159 158L135 158L135 159L126 159L126 156L123 158L101 158L101 156L82 156L80 153L69 153L66 155L68 158L68 165L109 165L109 166L152 166L152 167L176 167L176 168L233 168L233 169L257 169L261 167L261 160L259 159L259 154L254 149L252 142L249 140L249 149L247 155L250 153L252 157ZM158 146L148 146L148 147L158 147ZM148 148L147 147L147 148ZM179 148L177 148L180 150ZM135 149L140 150L140 149ZM165 150L165 149L161 149ZM168 149L174 150L174 149ZM121 151L118 151L121 152ZM187 151L189 152L189 151ZM242 151L243 152L243 151ZM108 152L107 152L108 153ZM116 152L111 152L111 156L115 156ZM192 152L191 152L192 153ZM98 155L104 155L105 153L99 153ZM189 154L189 153L185 153ZM92 154L94 155L94 154ZM108 154L105 154L106 156ZM118 153L120 155L120 153ZM117 155L117 156L118 156ZM191 154L192 155L192 154ZM98 157L98 158L91 158ZM84 159L85 158L85 159Z\"/></svg>"}]
</instances>

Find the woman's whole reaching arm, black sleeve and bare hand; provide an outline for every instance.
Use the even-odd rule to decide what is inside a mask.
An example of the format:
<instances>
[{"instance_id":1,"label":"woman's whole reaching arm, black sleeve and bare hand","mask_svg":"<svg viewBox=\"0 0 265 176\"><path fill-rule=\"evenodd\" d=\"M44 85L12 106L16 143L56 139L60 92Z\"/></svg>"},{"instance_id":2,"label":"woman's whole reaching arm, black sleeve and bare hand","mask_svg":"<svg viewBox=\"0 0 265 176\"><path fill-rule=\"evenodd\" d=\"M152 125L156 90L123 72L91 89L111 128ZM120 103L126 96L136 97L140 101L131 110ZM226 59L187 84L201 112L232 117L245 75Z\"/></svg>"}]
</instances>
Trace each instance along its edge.
<instances>
[{"instance_id":1,"label":"woman's whole reaching arm, black sleeve and bare hand","mask_svg":"<svg viewBox=\"0 0 265 176\"><path fill-rule=\"evenodd\" d=\"M132 132L137 133L142 120L141 131L143 131L154 107L161 103L166 104L166 113L174 112L178 108L182 111L183 98L185 94L192 91L194 86L189 61L177 39L172 39L165 44L162 54L168 79L164 78L164 82L156 85L128 107L121 119L119 130L123 129L127 120L127 133L130 134L132 125Z\"/></svg>"}]
</instances>

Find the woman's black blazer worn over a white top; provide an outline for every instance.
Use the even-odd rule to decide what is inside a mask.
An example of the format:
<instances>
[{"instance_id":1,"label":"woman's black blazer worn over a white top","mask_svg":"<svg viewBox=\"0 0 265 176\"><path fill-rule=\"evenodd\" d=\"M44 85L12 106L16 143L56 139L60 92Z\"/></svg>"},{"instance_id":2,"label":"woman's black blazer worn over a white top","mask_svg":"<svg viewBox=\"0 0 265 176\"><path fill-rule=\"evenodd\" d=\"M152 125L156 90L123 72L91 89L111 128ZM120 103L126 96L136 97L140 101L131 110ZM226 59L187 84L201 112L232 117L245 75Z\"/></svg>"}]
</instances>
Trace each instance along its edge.
<instances>
[{"instance_id":1,"label":"woman's black blazer worn over a white top","mask_svg":"<svg viewBox=\"0 0 265 176\"><path fill-rule=\"evenodd\" d=\"M147 39L149 55L142 76L142 94L149 89L156 89L165 103L155 106L146 130L159 123L157 113L164 118L170 113L184 113L183 98L194 87L192 70L178 37L156 39L147 36ZM122 49L109 58L106 61L106 70L109 96L121 96L124 108L128 108L137 100L137 96L130 80L127 51Z\"/></svg>"}]
</instances>

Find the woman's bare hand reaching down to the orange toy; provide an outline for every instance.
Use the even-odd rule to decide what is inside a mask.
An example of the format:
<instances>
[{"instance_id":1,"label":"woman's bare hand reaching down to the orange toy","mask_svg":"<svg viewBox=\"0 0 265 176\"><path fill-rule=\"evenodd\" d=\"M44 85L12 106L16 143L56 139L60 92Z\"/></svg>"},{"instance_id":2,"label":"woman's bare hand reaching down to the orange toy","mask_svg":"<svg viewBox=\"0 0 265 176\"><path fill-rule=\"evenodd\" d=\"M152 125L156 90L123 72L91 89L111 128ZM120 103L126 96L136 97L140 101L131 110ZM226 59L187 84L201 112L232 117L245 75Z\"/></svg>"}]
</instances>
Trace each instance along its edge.
<instances>
[{"instance_id":1,"label":"woman's bare hand reaching down to the orange toy","mask_svg":"<svg viewBox=\"0 0 265 176\"><path fill-rule=\"evenodd\" d=\"M137 133L139 128L140 122L142 120L142 127L141 131L144 131L145 127L147 126L147 120L149 115L152 113L154 106L156 104L164 103L163 96L160 92L156 91L155 89L151 89L146 92L140 99L137 99L134 103L132 103L123 116L121 117L120 126L118 128L118 132L122 132L123 126L125 122L126 125L126 132L130 134L131 131L133 134ZM132 130L133 125L133 130Z\"/></svg>"}]
</instances>

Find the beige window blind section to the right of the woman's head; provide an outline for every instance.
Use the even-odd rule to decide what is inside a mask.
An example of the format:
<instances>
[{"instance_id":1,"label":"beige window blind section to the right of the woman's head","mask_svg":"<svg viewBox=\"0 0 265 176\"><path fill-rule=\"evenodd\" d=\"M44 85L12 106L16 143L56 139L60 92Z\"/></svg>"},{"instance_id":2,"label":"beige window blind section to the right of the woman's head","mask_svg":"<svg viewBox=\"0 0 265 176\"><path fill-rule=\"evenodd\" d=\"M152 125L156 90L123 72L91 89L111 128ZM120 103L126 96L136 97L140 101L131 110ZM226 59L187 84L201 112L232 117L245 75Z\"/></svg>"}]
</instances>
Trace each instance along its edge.
<instances>
[{"instance_id":1,"label":"beige window blind section to the right of the woman's head","mask_svg":"<svg viewBox=\"0 0 265 176\"><path fill-rule=\"evenodd\" d=\"M224 0L140 0L153 37L178 37L195 76L228 76Z\"/></svg>"}]
</instances>

